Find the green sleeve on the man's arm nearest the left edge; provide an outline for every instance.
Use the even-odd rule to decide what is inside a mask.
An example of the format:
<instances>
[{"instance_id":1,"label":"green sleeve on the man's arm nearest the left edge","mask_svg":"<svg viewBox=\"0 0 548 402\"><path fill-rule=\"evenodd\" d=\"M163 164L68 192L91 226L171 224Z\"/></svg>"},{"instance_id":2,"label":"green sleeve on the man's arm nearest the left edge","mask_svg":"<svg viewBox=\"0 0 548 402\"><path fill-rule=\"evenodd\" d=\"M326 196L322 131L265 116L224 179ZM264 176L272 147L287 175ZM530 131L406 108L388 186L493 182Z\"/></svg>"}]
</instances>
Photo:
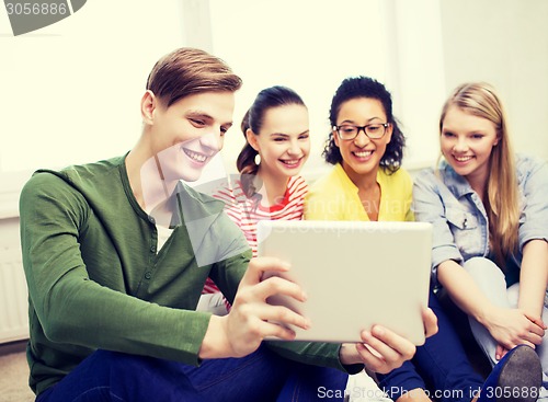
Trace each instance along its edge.
<instances>
[{"instance_id":1,"label":"green sleeve on the man's arm nearest the left edge","mask_svg":"<svg viewBox=\"0 0 548 402\"><path fill-rule=\"evenodd\" d=\"M199 363L208 313L162 307L90 279L79 237L93 213L79 192L38 174L23 188L20 211L31 338L66 353L77 345Z\"/></svg>"}]
</instances>

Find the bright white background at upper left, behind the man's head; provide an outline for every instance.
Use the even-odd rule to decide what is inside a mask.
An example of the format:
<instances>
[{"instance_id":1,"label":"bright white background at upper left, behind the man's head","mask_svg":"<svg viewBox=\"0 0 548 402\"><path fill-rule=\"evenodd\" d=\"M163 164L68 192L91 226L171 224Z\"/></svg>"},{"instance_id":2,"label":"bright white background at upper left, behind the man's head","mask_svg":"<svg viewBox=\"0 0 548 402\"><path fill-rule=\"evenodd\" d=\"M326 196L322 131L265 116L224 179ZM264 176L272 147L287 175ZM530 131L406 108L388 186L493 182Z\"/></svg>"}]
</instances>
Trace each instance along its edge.
<instances>
[{"instance_id":1,"label":"bright white background at upper left, behind the man's head","mask_svg":"<svg viewBox=\"0 0 548 402\"><path fill-rule=\"evenodd\" d=\"M175 0L93 0L16 37L0 10L0 217L16 210L21 181L35 169L133 147L149 71L185 42L181 10Z\"/></svg>"}]
</instances>

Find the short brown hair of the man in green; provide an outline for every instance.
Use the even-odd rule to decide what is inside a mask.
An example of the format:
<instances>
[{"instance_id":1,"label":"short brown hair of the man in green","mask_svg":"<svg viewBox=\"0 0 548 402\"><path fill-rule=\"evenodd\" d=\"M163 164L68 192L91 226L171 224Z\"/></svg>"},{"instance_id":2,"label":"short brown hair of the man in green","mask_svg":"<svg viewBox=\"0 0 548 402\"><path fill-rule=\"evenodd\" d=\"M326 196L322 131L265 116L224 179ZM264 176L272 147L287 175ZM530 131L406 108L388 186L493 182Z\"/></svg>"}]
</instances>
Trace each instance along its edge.
<instances>
[{"instance_id":1,"label":"short brown hair of the man in green","mask_svg":"<svg viewBox=\"0 0 548 402\"><path fill-rule=\"evenodd\" d=\"M207 51L182 47L159 59L147 80L147 90L171 106L202 92L236 92L242 80L228 65Z\"/></svg>"}]
</instances>

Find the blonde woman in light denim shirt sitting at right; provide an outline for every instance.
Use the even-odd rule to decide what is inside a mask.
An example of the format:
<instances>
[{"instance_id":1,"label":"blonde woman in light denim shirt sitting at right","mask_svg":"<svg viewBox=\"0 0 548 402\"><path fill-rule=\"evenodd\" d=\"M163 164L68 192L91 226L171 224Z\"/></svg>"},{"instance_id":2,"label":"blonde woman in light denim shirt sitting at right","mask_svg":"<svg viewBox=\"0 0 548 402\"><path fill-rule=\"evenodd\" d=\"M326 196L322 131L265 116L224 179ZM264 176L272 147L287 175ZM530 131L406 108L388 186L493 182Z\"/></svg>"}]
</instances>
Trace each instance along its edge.
<instances>
[{"instance_id":1,"label":"blonde woman in light denim shirt sitting at right","mask_svg":"<svg viewBox=\"0 0 548 402\"><path fill-rule=\"evenodd\" d=\"M444 161L413 189L416 219L434 225L433 277L468 314L492 365L516 345L536 349L539 400L548 400L548 165L514 156L502 103L487 83L453 92L439 133Z\"/></svg>"}]
</instances>

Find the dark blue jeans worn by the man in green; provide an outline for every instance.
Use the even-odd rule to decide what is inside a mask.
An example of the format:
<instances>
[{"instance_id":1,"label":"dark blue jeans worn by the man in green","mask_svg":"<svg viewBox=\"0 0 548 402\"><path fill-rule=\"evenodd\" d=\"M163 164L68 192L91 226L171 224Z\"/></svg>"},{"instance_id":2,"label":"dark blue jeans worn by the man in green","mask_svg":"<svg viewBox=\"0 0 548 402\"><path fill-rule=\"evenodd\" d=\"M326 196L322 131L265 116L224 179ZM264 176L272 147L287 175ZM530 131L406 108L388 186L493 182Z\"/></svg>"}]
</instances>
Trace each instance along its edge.
<instances>
[{"instance_id":1,"label":"dark blue jeans worn by the man in green","mask_svg":"<svg viewBox=\"0 0 548 402\"><path fill-rule=\"evenodd\" d=\"M265 346L199 367L96 351L36 402L342 401L346 380L342 371L287 360Z\"/></svg>"}]
</instances>

